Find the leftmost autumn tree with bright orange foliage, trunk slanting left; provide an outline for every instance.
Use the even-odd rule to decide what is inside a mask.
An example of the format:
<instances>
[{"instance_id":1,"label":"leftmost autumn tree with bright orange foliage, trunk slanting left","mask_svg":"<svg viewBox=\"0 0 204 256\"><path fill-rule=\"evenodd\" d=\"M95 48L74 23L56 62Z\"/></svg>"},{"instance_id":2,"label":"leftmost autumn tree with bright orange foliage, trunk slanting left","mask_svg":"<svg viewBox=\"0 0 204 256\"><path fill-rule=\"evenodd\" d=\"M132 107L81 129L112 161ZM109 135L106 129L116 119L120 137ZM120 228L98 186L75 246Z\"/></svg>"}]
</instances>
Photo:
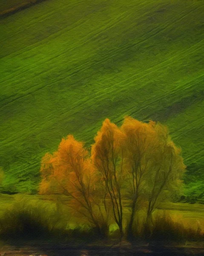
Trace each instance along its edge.
<instances>
[{"instance_id":1,"label":"leftmost autumn tree with bright orange foliage, trunk slanting left","mask_svg":"<svg viewBox=\"0 0 204 256\"><path fill-rule=\"evenodd\" d=\"M83 143L76 141L72 135L62 139L53 155L43 157L40 172L40 194L58 192L68 195L72 209L86 218L98 233L104 232L106 220L96 200L98 177Z\"/></svg>"}]
</instances>

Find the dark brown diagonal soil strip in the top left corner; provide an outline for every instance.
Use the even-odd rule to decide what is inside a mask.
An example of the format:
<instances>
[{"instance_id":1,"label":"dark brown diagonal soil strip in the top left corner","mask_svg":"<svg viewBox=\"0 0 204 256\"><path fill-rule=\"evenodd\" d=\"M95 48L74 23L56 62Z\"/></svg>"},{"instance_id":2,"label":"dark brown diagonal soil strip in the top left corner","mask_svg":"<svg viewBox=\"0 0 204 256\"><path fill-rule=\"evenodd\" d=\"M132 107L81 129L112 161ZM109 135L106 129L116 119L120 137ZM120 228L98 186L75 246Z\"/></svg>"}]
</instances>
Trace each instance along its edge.
<instances>
[{"instance_id":1,"label":"dark brown diagonal soil strip in the top left corner","mask_svg":"<svg viewBox=\"0 0 204 256\"><path fill-rule=\"evenodd\" d=\"M26 3L23 3L21 5L18 5L18 6L14 6L13 8L11 9L8 9L8 10L5 10L3 12L0 12L0 19L3 19L5 17L8 17L10 15L13 15L17 12L20 12L24 9L27 9L31 6L34 6L36 5L37 3L42 3L42 2L45 2L46 0L32 0L32 1L29 1L29 2L26 2Z\"/></svg>"}]
</instances>

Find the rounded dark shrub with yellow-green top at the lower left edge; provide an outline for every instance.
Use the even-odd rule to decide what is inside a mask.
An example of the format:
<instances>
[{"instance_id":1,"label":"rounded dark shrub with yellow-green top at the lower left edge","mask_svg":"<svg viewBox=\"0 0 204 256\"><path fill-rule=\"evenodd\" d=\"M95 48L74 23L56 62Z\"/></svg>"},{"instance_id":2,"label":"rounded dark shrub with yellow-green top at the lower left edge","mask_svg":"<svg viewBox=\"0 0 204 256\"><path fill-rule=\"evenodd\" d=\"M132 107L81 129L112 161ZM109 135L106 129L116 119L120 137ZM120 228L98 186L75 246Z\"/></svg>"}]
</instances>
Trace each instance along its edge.
<instances>
[{"instance_id":1,"label":"rounded dark shrub with yellow-green top at the lower left edge","mask_svg":"<svg viewBox=\"0 0 204 256\"><path fill-rule=\"evenodd\" d=\"M52 236L59 222L57 209L53 205L29 201L18 196L14 204L8 207L0 218L0 236L2 239L33 239Z\"/></svg>"}]
</instances>

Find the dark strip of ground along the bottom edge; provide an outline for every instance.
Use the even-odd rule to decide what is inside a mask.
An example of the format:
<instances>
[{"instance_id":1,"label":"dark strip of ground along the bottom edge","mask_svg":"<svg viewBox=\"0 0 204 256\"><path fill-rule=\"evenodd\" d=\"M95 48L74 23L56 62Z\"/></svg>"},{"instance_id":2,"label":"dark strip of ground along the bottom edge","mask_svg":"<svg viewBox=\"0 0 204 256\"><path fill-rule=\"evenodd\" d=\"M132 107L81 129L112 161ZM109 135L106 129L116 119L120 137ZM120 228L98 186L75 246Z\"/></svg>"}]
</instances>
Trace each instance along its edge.
<instances>
[{"instance_id":1,"label":"dark strip of ground along the bottom edge","mask_svg":"<svg viewBox=\"0 0 204 256\"><path fill-rule=\"evenodd\" d=\"M132 246L115 245L112 247L102 246L78 246L44 244L12 246L4 245L0 248L0 256L204 256L203 247L172 247L141 245Z\"/></svg>"}]
</instances>

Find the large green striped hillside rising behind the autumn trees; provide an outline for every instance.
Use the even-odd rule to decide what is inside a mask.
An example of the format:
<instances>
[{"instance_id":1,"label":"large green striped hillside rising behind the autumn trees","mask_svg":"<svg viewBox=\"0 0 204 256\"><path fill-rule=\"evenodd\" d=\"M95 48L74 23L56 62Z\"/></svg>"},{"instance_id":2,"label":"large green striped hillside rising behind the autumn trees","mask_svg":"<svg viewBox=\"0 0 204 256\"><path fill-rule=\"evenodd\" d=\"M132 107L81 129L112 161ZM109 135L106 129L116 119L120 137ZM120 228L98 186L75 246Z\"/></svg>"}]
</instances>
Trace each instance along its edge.
<instances>
[{"instance_id":1,"label":"large green striped hillside rising behind the autumn trees","mask_svg":"<svg viewBox=\"0 0 204 256\"><path fill-rule=\"evenodd\" d=\"M90 145L125 115L167 124L204 187L204 1L48 0L0 31L5 191L34 191L63 136Z\"/></svg>"}]
</instances>

